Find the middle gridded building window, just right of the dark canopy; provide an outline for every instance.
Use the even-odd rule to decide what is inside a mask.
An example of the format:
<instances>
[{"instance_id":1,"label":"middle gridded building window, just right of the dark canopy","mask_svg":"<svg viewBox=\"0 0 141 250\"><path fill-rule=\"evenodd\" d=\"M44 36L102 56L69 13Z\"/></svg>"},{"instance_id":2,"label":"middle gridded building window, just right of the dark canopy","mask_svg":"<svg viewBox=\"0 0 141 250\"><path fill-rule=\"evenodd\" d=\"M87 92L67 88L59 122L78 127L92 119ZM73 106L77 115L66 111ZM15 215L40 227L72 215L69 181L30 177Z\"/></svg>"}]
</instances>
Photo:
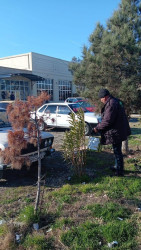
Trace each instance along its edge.
<instances>
[{"instance_id":1,"label":"middle gridded building window, just right of the dark canopy","mask_svg":"<svg viewBox=\"0 0 141 250\"><path fill-rule=\"evenodd\" d=\"M38 81L37 83L37 95L40 95L41 91L46 91L50 95L50 100L53 100L53 79L45 79L44 81Z\"/></svg>"}]
</instances>

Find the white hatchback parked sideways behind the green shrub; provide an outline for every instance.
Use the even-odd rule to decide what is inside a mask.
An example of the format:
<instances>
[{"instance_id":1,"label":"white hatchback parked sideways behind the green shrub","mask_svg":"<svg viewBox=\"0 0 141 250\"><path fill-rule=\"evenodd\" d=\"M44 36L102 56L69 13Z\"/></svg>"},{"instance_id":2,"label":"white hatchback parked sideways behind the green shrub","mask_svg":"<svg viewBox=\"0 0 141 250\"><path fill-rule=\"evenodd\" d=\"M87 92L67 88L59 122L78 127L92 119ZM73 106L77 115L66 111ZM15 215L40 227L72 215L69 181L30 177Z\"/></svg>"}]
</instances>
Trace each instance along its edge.
<instances>
[{"instance_id":1,"label":"white hatchback parked sideways behind the green shrub","mask_svg":"<svg viewBox=\"0 0 141 250\"><path fill-rule=\"evenodd\" d=\"M79 103L48 103L44 104L37 110L37 117L43 119L41 129L44 130L45 126L58 127L58 128L69 128L70 127L70 114L74 113L77 117L77 111L81 108ZM101 121L100 115L89 112L85 108L84 119L85 119L85 135L89 135L92 132L98 122ZM31 118L34 119L35 113L32 112Z\"/></svg>"}]
</instances>

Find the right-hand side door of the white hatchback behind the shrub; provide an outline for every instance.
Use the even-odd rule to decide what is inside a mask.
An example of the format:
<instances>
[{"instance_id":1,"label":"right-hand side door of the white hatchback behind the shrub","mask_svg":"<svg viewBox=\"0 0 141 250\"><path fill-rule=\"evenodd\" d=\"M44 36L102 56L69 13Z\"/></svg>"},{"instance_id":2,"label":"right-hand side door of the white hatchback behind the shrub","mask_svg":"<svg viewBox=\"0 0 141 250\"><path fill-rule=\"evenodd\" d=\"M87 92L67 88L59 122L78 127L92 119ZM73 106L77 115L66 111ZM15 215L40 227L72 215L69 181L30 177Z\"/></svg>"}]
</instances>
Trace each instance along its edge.
<instances>
[{"instance_id":1,"label":"right-hand side door of the white hatchback behind the shrub","mask_svg":"<svg viewBox=\"0 0 141 250\"><path fill-rule=\"evenodd\" d=\"M58 105L57 108L57 126L61 128L70 127L70 113L71 109L66 105Z\"/></svg>"}]
</instances>

